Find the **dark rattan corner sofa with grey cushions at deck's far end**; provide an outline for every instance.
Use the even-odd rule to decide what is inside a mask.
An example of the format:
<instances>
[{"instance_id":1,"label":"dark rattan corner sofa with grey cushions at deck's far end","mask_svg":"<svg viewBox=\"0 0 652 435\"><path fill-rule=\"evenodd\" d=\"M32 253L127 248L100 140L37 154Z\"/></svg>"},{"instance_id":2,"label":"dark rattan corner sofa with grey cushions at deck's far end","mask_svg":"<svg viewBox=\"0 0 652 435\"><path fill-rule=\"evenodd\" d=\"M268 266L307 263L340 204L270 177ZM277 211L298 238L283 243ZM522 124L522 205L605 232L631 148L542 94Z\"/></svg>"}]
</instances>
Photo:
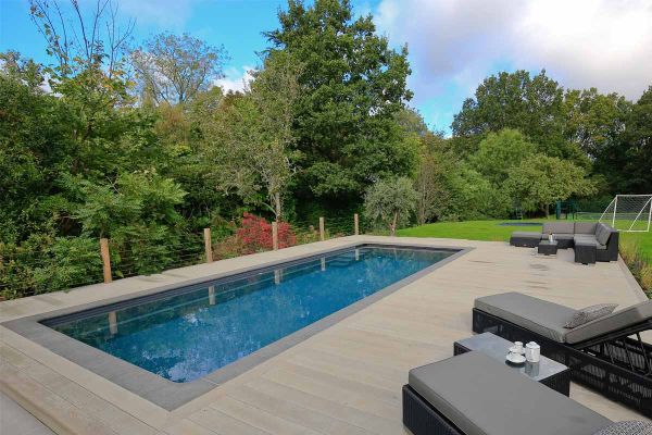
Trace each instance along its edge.
<instances>
[{"instance_id":1,"label":"dark rattan corner sofa with grey cushions at deck's far end","mask_svg":"<svg viewBox=\"0 0 652 435\"><path fill-rule=\"evenodd\" d=\"M510 245L536 248L551 234L560 249L579 248L575 252L576 263L618 260L618 232L603 223L547 222L541 233L512 233Z\"/></svg>"}]
</instances>

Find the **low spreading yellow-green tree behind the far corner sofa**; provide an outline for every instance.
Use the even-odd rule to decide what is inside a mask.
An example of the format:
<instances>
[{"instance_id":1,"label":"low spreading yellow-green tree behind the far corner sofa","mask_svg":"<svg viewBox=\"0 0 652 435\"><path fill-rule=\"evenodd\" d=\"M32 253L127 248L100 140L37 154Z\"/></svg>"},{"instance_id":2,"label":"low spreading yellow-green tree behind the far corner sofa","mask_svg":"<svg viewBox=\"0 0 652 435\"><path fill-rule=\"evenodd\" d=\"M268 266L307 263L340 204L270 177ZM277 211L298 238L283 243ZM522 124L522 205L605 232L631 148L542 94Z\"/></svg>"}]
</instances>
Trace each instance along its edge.
<instances>
[{"instance_id":1,"label":"low spreading yellow-green tree behind the far corner sofa","mask_svg":"<svg viewBox=\"0 0 652 435\"><path fill-rule=\"evenodd\" d=\"M573 196L594 192L593 184L581 167L554 157L531 154L510 170L505 189L526 211L540 210L549 215L550 204Z\"/></svg>"}]
</instances>

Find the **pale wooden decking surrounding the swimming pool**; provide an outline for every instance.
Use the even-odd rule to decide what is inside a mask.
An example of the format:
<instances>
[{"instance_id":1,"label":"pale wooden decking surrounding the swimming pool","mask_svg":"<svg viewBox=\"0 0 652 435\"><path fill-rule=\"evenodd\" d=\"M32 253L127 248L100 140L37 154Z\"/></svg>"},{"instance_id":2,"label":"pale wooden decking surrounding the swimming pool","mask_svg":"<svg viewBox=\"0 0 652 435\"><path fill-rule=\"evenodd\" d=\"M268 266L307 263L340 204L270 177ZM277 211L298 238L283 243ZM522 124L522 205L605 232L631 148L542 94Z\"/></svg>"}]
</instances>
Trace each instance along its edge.
<instances>
[{"instance_id":1,"label":"pale wooden decking surrounding the swimming pool","mask_svg":"<svg viewBox=\"0 0 652 435\"><path fill-rule=\"evenodd\" d=\"M0 322L353 239L3 302ZM452 356L452 343L472 334L476 297L517 290L576 308L644 298L620 263L585 266L573 263L572 250L540 258L503 243L437 241L476 249L172 412L2 327L0 388L58 433L403 434L408 371ZM612 420L643 419L576 385L570 397Z\"/></svg>"}]
</instances>

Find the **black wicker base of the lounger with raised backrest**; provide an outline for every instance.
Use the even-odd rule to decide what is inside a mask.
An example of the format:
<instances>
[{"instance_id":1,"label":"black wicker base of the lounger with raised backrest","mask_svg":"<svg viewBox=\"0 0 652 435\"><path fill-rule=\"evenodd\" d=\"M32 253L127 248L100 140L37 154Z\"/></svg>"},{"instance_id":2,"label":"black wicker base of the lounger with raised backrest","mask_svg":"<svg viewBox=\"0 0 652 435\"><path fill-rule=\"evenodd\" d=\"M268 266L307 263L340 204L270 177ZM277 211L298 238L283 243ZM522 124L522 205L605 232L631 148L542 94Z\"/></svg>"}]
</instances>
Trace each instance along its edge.
<instances>
[{"instance_id":1,"label":"black wicker base of the lounger with raised backrest","mask_svg":"<svg viewBox=\"0 0 652 435\"><path fill-rule=\"evenodd\" d=\"M493 333L510 341L537 341L541 345L541 352L546 357L570 368L573 381L631 407L643 415L652 417L652 368L650 368L652 346L650 345L642 345L620 335L580 350L475 308L473 331ZM631 334L636 332L632 331L629 335ZM629 368L635 368L637 371Z\"/></svg>"}]
</instances>

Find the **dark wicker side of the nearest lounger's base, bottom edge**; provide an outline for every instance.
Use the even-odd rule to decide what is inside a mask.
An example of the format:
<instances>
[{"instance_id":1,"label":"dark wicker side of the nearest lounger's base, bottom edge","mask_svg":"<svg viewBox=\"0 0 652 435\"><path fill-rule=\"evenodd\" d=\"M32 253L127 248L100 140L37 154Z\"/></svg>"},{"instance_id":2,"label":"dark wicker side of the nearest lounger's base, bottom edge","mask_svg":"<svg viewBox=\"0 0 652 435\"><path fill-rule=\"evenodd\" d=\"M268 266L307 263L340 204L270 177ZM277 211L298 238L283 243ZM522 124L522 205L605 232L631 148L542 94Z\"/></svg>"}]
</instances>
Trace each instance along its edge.
<instances>
[{"instance_id":1,"label":"dark wicker side of the nearest lounger's base, bottom edge","mask_svg":"<svg viewBox=\"0 0 652 435\"><path fill-rule=\"evenodd\" d=\"M403 424L414 435L464 435L410 385L403 385Z\"/></svg>"}]
</instances>

